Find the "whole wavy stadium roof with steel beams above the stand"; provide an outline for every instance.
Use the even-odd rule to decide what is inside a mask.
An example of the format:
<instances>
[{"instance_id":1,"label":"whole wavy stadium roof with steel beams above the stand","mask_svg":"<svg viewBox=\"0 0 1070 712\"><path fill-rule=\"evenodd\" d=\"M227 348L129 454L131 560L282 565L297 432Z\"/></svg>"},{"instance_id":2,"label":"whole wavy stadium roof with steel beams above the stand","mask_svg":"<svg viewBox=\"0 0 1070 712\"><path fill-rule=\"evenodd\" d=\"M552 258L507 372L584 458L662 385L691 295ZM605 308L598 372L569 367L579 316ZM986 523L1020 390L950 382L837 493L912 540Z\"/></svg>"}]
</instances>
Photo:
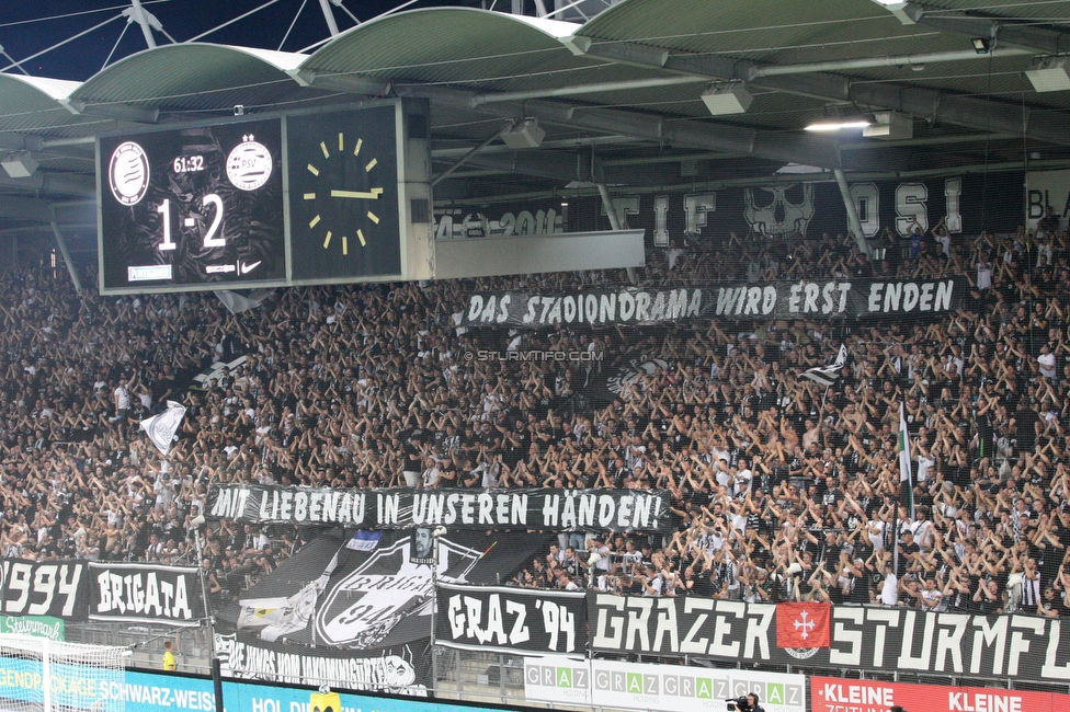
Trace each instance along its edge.
<instances>
[{"instance_id":1,"label":"whole wavy stadium roof with steel beams above the stand","mask_svg":"<svg viewBox=\"0 0 1070 712\"><path fill-rule=\"evenodd\" d=\"M591 177L615 190L770 181L789 162L842 166L856 179L1022 168L1034 152L1039 165L1070 165L1070 91L1038 93L1025 74L1038 58L1070 50L1068 3L611 4L584 23L409 10L308 54L168 44L83 83L2 73L0 150L29 151L39 165L30 177L0 173L0 234L50 240L41 218L55 217L76 252L94 251L92 137L217 119L239 104L255 114L429 97L436 173L510 122L537 118L539 148L493 141L436 185L435 198L454 203L590 190ZM748 110L710 115L702 94L735 82L753 97ZM880 111L907 116L912 138L802 130Z\"/></svg>"}]
</instances>

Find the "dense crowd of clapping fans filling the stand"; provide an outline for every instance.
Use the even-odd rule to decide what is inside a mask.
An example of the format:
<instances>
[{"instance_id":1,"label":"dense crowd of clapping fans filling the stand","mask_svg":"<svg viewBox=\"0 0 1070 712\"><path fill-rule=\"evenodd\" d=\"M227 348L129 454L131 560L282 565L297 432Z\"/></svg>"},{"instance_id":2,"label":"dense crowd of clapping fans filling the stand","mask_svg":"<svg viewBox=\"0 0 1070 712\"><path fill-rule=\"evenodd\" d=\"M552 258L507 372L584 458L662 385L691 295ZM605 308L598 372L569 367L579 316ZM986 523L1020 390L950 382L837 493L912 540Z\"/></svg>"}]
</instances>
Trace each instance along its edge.
<instances>
[{"instance_id":1,"label":"dense crowd of clapping fans filling the stand","mask_svg":"<svg viewBox=\"0 0 1070 712\"><path fill-rule=\"evenodd\" d=\"M941 223L881 260L829 236L732 236L668 257L639 284L701 283L716 265L754 282L961 275L970 294L909 321L510 333L459 328L455 314L476 289L627 277L295 288L235 315L210 294L79 296L64 273L11 271L0 278L0 552L195 562L193 519L213 484L236 481L650 487L671 493L674 533L565 535L515 582L1070 613L1066 236L966 238ZM841 344L851 357L835 386L800 377ZM602 360L474 357L508 348ZM649 368L602 400L635 363ZM168 399L187 412L163 458L138 423ZM912 493L900 486L900 403ZM210 524L210 593L232 598L306 533Z\"/></svg>"}]
</instances>

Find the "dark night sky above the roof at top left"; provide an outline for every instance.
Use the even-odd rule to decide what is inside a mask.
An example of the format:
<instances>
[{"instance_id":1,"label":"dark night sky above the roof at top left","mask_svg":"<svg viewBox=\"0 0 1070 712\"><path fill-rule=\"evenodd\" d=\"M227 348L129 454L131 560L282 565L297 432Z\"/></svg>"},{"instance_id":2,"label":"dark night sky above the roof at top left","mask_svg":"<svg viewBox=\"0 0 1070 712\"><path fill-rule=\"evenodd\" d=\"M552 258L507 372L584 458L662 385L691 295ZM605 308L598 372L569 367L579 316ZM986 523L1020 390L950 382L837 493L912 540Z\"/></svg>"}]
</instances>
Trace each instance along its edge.
<instances>
[{"instance_id":1,"label":"dark night sky above the roof at top left","mask_svg":"<svg viewBox=\"0 0 1070 712\"><path fill-rule=\"evenodd\" d=\"M175 41L183 42L266 2L268 0L143 0L143 5L160 20L163 30ZM206 36L203 42L278 49L301 4L303 0L276 0L260 12ZM282 46L283 50L297 51L329 35L319 0L304 0L304 4L293 31ZM402 0L344 0L343 4L364 22L402 4ZM499 4L508 7L508 0L500 0ZM410 5L410 9L434 5L479 7L479 0L420 0ZM127 7L129 0L0 0L0 45L15 60L22 60L117 16ZM354 25L349 15L338 8L334 8L334 16L343 32ZM101 70L124 26L126 18L114 20L26 62L24 67L37 77L84 81ZM158 44L169 42L159 33L155 34ZM126 33L116 47L111 64L145 48L140 27L136 24L126 26ZM7 59L2 61L4 67L10 64Z\"/></svg>"}]
</instances>

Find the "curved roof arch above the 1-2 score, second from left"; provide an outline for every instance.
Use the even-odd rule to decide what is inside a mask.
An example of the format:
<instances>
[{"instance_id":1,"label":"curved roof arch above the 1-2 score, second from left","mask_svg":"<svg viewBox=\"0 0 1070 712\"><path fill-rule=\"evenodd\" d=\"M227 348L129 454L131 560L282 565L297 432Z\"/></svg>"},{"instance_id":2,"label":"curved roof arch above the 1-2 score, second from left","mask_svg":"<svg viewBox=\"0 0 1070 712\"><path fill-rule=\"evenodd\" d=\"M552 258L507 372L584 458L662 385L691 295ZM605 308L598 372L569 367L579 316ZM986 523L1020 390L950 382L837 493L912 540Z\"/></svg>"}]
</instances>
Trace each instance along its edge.
<instances>
[{"instance_id":1,"label":"curved roof arch above the 1-2 score, second from left","mask_svg":"<svg viewBox=\"0 0 1070 712\"><path fill-rule=\"evenodd\" d=\"M297 91L287 73L305 55L190 43L132 55L98 72L71 100L161 111L266 104Z\"/></svg>"}]
</instances>

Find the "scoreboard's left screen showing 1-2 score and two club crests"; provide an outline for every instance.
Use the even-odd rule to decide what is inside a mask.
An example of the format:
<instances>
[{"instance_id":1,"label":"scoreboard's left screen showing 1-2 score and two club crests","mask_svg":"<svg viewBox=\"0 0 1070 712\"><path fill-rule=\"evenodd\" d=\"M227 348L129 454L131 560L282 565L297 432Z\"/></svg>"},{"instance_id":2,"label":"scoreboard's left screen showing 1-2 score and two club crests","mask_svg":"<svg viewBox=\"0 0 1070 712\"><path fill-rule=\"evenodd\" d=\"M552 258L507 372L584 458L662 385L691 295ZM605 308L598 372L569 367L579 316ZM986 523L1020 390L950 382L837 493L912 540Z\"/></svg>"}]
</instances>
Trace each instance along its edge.
<instances>
[{"instance_id":1,"label":"scoreboard's left screen showing 1-2 score and two club crests","mask_svg":"<svg viewBox=\"0 0 1070 712\"><path fill-rule=\"evenodd\" d=\"M283 284L281 120L100 140L103 291Z\"/></svg>"}]
</instances>

